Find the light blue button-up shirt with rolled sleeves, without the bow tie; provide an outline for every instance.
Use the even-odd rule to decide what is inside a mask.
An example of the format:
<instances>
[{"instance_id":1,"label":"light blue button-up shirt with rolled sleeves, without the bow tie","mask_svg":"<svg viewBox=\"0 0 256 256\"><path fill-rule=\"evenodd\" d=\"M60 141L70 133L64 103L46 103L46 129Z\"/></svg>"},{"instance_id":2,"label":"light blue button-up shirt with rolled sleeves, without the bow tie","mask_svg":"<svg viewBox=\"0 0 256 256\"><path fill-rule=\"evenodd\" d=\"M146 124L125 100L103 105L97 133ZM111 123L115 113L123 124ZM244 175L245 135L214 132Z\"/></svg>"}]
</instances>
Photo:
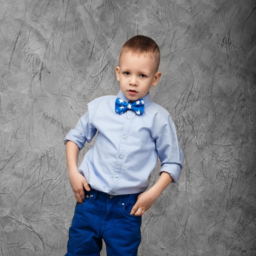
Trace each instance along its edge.
<instances>
[{"instance_id":1,"label":"light blue button-up shirt with rolled sleeves, without the bow tie","mask_svg":"<svg viewBox=\"0 0 256 256\"><path fill-rule=\"evenodd\" d=\"M88 103L88 112L67 133L64 142L73 141L81 150L98 131L79 172L93 189L110 195L140 193L147 189L159 156L160 173L170 173L177 183L184 153L170 114L150 101L148 93L143 98L143 115L132 110L119 115L115 112L117 97L129 101L121 91L117 96L94 99Z\"/></svg>"}]
</instances>

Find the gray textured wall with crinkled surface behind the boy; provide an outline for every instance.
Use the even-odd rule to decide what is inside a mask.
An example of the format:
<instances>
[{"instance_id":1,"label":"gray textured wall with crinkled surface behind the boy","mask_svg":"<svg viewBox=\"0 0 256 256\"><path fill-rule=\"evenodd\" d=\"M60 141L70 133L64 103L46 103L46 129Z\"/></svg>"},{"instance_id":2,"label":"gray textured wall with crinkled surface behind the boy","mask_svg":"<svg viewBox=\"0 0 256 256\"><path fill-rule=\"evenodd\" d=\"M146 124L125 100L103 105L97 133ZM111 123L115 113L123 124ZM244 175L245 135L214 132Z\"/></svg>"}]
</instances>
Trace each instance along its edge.
<instances>
[{"instance_id":1,"label":"gray textured wall with crinkled surface behind the boy","mask_svg":"<svg viewBox=\"0 0 256 256\"><path fill-rule=\"evenodd\" d=\"M255 31L255 0L0 0L0 255L65 253L63 137L118 92L119 49L136 34L161 48L151 95L186 155L144 215L139 256L256 255Z\"/></svg>"}]
</instances>

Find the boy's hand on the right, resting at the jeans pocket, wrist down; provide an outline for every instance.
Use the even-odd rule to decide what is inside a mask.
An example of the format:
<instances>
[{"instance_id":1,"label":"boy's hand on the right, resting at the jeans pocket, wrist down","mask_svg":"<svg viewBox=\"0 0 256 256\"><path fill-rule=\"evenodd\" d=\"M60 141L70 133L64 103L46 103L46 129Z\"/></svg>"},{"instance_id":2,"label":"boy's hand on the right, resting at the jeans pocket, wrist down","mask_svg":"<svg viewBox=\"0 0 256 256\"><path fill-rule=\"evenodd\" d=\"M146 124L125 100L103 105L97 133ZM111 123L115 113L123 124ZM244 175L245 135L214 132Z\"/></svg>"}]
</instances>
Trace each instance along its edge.
<instances>
[{"instance_id":1,"label":"boy's hand on the right, resting at the jeans pocket, wrist down","mask_svg":"<svg viewBox=\"0 0 256 256\"><path fill-rule=\"evenodd\" d=\"M154 198L154 196L151 195L151 191L141 193L138 196L137 202L132 207L130 214L135 216L142 216L144 212L147 211L152 206L155 200L156 198Z\"/></svg>"}]
</instances>

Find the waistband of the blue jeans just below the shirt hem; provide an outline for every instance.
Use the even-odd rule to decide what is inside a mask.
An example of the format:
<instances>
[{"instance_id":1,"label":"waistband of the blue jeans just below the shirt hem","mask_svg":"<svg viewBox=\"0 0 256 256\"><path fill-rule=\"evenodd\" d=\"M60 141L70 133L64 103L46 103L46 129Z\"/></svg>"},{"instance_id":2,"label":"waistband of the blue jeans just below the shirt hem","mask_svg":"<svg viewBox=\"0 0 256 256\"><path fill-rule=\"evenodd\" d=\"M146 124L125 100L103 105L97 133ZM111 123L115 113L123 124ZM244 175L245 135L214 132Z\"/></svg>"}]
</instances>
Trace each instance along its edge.
<instances>
[{"instance_id":1,"label":"waistband of the blue jeans just below the shirt hem","mask_svg":"<svg viewBox=\"0 0 256 256\"><path fill-rule=\"evenodd\" d=\"M134 201L137 200L137 197L141 193L136 193L136 194L129 194L129 195L110 195L108 193L104 193L101 191L98 191L96 189L91 189L90 191L85 191L85 197L90 198L92 201L96 200L103 200L107 202L117 202L118 206L123 203L123 202L128 202L128 201Z\"/></svg>"}]
</instances>

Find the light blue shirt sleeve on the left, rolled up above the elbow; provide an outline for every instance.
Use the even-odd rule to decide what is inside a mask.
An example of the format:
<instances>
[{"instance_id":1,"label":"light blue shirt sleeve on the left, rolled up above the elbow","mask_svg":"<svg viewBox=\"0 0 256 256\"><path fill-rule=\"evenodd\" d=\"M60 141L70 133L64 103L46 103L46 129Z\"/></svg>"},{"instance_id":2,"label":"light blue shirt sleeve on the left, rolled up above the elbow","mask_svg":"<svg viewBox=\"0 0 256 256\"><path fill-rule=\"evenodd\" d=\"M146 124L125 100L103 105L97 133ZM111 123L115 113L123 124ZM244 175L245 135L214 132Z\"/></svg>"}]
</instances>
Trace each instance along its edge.
<instances>
[{"instance_id":1,"label":"light blue shirt sleeve on the left, rolled up above the elbow","mask_svg":"<svg viewBox=\"0 0 256 256\"><path fill-rule=\"evenodd\" d=\"M97 129L90 124L90 118L88 112L83 115L76 124L74 129L71 129L64 138L64 144L68 140L73 141L81 150L85 142L90 143L94 135L96 134Z\"/></svg>"}]
</instances>

